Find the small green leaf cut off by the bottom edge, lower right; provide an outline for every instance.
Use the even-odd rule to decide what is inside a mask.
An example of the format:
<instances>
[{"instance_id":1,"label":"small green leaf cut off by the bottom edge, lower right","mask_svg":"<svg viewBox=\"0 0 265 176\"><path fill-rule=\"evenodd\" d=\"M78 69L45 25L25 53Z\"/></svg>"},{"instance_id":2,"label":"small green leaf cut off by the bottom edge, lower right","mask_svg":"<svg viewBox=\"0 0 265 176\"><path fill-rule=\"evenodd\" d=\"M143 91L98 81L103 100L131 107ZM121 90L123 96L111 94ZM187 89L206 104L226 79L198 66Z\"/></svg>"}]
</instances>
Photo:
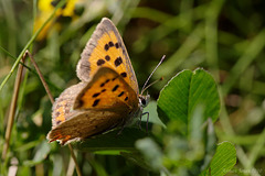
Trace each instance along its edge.
<instances>
[{"instance_id":1,"label":"small green leaf cut off by the bottom edge, lower right","mask_svg":"<svg viewBox=\"0 0 265 176\"><path fill-rule=\"evenodd\" d=\"M236 151L232 143L223 142L218 145L216 152L206 170L200 175L223 176L227 174L236 164Z\"/></svg>"}]
</instances>

